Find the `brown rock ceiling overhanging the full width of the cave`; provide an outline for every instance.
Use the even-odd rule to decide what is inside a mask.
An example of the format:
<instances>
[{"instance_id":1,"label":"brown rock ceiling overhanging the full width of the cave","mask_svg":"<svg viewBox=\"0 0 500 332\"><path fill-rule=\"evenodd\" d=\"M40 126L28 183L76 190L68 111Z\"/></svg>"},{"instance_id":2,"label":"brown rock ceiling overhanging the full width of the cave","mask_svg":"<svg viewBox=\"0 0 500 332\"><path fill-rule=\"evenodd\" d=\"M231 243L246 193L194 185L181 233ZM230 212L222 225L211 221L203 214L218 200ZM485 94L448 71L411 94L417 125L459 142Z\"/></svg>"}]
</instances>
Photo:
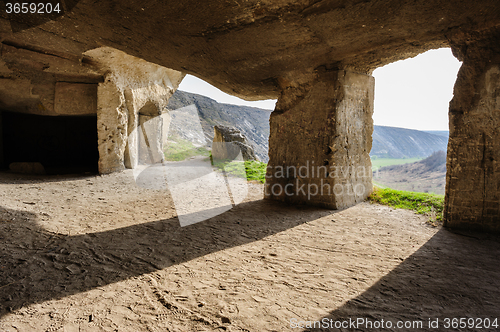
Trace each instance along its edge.
<instances>
[{"instance_id":1,"label":"brown rock ceiling overhanging the full width of the cave","mask_svg":"<svg viewBox=\"0 0 500 332\"><path fill-rule=\"evenodd\" d=\"M248 100L277 98L318 70L370 73L500 25L497 0L80 0L66 7L31 28L2 13L0 39L74 54L114 47Z\"/></svg>"}]
</instances>

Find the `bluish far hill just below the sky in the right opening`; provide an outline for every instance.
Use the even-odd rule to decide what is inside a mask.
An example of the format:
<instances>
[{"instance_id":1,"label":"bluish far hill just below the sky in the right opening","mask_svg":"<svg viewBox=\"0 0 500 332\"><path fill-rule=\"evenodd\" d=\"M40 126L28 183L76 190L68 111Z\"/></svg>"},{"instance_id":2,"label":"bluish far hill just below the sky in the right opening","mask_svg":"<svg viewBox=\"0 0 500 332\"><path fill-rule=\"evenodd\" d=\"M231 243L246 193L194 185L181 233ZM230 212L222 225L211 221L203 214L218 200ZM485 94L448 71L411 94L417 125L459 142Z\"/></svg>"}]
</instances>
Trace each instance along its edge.
<instances>
[{"instance_id":1,"label":"bluish far hill just below the sky in the right opening","mask_svg":"<svg viewBox=\"0 0 500 332\"><path fill-rule=\"evenodd\" d=\"M448 137L427 132L374 126L370 156L378 158L425 158L435 151L446 151Z\"/></svg>"}]
</instances>

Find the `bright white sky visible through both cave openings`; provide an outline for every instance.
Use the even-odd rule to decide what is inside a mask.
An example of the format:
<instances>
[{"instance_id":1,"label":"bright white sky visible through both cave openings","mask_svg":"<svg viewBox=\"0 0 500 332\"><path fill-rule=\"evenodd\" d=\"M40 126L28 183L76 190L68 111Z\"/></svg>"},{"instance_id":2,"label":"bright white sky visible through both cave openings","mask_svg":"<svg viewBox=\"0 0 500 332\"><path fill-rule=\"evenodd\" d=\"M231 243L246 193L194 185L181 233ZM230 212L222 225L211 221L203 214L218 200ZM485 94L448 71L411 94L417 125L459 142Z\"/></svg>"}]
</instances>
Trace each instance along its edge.
<instances>
[{"instance_id":1,"label":"bright white sky visible through both cave openings","mask_svg":"<svg viewBox=\"0 0 500 332\"><path fill-rule=\"evenodd\" d=\"M448 130L448 103L461 63L450 49L432 50L412 59L376 69L376 125L418 130ZM274 109L275 100L245 101L187 75L179 90L197 93L220 103Z\"/></svg>"}]
</instances>

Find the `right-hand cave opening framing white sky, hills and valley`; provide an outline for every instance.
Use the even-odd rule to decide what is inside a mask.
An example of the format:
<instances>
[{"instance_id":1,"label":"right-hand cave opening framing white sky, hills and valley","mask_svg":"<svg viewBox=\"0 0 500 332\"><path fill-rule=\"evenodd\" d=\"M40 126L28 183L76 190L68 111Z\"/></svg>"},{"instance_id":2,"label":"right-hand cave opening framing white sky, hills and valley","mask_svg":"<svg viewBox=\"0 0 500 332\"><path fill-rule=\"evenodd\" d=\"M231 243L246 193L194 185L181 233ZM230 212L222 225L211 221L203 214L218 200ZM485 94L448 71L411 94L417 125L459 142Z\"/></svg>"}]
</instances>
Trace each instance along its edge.
<instances>
[{"instance_id":1,"label":"right-hand cave opening framing white sky, hills and valley","mask_svg":"<svg viewBox=\"0 0 500 332\"><path fill-rule=\"evenodd\" d=\"M460 66L442 48L373 72L375 186L444 195L448 108Z\"/></svg>"}]
</instances>

